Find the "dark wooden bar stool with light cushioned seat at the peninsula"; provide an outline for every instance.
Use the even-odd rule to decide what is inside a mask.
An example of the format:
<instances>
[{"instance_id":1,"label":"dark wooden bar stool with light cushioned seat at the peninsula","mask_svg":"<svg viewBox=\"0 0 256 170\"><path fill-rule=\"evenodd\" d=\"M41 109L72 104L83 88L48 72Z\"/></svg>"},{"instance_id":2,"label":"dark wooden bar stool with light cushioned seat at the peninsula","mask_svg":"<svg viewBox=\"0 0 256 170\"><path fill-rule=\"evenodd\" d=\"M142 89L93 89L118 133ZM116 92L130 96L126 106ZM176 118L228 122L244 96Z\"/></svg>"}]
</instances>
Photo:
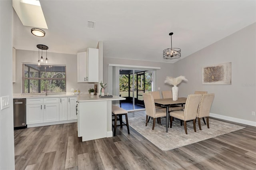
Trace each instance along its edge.
<instances>
[{"instance_id":1,"label":"dark wooden bar stool with light cushioned seat at the peninsula","mask_svg":"<svg viewBox=\"0 0 256 170\"><path fill-rule=\"evenodd\" d=\"M114 136L116 136L116 127L123 127L126 126L127 127L127 131L128 131L128 134L130 134L130 130L129 130L129 123L128 123L128 117L127 117L127 111L118 107L118 106L115 106L115 105L112 105L112 114L114 115L114 119L112 119L112 121L114 121L114 125L112 125L114 127ZM122 121L122 115L125 115L125 119L126 119L126 123L124 123ZM117 118L117 116L119 118ZM120 125L117 125L117 121L120 122Z\"/></svg>"}]
</instances>

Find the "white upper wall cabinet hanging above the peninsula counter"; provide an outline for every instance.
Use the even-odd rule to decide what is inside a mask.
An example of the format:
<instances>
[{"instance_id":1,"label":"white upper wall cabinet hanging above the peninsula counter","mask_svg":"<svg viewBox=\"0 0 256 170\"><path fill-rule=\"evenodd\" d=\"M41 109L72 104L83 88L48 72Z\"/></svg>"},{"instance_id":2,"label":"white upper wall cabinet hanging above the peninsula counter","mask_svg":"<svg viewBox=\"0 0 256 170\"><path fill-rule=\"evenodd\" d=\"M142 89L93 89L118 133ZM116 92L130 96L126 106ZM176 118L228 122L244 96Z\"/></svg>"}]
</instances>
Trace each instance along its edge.
<instances>
[{"instance_id":1,"label":"white upper wall cabinet hanging above the peninsula counter","mask_svg":"<svg viewBox=\"0 0 256 170\"><path fill-rule=\"evenodd\" d=\"M77 53L77 82L99 81L99 50L88 48L86 52Z\"/></svg>"}]
</instances>

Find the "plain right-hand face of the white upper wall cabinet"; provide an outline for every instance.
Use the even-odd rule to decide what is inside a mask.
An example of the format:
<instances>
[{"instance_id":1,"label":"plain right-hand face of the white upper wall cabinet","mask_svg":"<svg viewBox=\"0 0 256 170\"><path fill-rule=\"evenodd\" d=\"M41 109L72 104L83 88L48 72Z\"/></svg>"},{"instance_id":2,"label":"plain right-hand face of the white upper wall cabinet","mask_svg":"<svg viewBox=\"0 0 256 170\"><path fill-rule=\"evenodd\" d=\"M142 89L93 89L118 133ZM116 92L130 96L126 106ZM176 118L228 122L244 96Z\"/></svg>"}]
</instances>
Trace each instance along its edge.
<instances>
[{"instance_id":1,"label":"plain right-hand face of the white upper wall cabinet","mask_svg":"<svg viewBox=\"0 0 256 170\"><path fill-rule=\"evenodd\" d=\"M99 49L88 48L88 82L99 82Z\"/></svg>"}]
</instances>

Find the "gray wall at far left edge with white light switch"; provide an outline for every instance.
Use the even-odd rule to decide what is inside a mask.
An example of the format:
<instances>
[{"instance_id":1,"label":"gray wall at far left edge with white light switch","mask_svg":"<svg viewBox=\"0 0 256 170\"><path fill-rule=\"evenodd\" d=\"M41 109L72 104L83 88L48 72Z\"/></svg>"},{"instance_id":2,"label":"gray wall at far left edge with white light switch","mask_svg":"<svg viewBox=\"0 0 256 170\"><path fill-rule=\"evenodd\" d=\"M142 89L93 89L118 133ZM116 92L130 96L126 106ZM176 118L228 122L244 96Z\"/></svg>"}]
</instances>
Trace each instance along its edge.
<instances>
[{"instance_id":1,"label":"gray wall at far left edge with white light switch","mask_svg":"<svg viewBox=\"0 0 256 170\"><path fill-rule=\"evenodd\" d=\"M0 110L0 169L14 170L11 0L0 0L0 25L0 96L10 99L10 107Z\"/></svg>"}]
</instances>

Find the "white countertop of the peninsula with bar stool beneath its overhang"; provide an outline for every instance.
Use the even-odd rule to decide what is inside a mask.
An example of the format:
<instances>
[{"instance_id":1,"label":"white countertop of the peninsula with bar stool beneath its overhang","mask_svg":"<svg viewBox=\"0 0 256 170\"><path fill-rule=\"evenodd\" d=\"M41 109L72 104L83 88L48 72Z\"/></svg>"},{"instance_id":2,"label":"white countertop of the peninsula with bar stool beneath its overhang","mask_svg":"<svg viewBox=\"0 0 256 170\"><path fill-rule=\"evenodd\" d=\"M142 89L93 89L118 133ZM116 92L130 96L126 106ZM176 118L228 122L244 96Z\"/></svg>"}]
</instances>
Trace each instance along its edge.
<instances>
[{"instance_id":1,"label":"white countertop of the peninsula with bar stool beneath its overhang","mask_svg":"<svg viewBox=\"0 0 256 170\"><path fill-rule=\"evenodd\" d=\"M98 95L78 95L77 101L78 102L90 102L90 101L114 101L114 100L125 100L124 97L113 96L107 98L100 98Z\"/></svg>"}]
</instances>

